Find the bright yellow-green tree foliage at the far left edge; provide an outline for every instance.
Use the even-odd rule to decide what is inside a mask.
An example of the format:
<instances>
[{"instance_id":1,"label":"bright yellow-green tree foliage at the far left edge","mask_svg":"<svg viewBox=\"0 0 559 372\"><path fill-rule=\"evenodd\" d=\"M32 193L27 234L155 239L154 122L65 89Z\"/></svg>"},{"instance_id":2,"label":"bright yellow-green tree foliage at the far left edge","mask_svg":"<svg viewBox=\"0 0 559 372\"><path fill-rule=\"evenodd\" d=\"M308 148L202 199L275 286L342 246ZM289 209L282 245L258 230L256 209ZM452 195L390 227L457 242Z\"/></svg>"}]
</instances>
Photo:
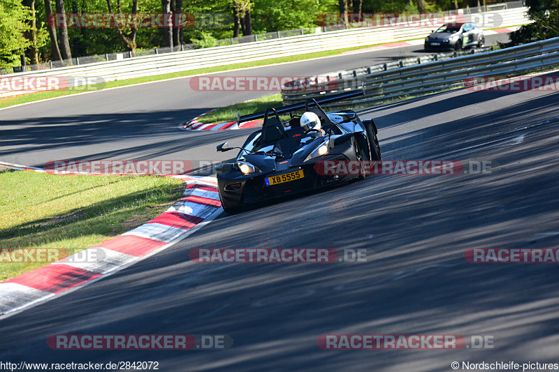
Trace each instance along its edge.
<instances>
[{"instance_id":1,"label":"bright yellow-green tree foliage at the far left edge","mask_svg":"<svg viewBox=\"0 0 559 372\"><path fill-rule=\"evenodd\" d=\"M21 65L20 55L31 45L23 34L31 29L32 19L31 9L22 6L21 1L0 1L0 68Z\"/></svg>"}]
</instances>

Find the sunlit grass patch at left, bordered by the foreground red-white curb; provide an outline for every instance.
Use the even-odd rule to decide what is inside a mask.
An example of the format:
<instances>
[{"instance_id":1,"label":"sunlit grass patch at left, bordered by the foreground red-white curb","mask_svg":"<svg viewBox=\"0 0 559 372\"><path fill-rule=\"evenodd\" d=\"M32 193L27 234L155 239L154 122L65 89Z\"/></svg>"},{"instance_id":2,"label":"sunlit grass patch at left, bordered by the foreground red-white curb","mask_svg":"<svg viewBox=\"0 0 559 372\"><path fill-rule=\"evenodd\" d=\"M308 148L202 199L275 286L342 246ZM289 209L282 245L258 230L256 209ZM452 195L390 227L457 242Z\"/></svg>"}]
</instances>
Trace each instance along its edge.
<instances>
[{"instance_id":1,"label":"sunlit grass patch at left, bordered by the foreground red-white curb","mask_svg":"<svg viewBox=\"0 0 559 372\"><path fill-rule=\"evenodd\" d=\"M0 281L50 262L11 262L8 248L68 254L132 230L180 198L180 179L0 172Z\"/></svg>"}]
</instances>

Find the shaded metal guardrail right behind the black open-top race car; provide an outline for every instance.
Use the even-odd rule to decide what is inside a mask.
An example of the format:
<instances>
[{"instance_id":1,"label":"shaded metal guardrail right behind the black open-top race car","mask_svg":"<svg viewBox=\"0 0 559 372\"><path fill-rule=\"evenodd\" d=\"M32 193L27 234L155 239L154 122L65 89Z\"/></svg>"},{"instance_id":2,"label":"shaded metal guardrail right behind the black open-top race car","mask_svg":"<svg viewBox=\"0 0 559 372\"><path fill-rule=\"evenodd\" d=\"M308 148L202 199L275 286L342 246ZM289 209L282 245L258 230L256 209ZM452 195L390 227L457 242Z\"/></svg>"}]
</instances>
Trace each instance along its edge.
<instances>
[{"instance_id":1,"label":"shaded metal guardrail right behind the black open-top race car","mask_svg":"<svg viewBox=\"0 0 559 372\"><path fill-rule=\"evenodd\" d=\"M317 89L317 87L312 86L306 91L305 89L297 91L293 86L288 85L283 87L282 96L284 96L284 104L290 104L293 101L301 101L305 98L324 98L325 94L328 96L329 93L339 93L347 89L363 87L365 99L329 105L329 107L347 107L349 104L371 104L401 96L413 96L451 87L460 87L464 86L465 80L474 77L499 77L551 66L559 66L559 38L493 52L401 67L380 73L342 78L336 84L327 86L334 87L334 89L323 91L319 91L320 87ZM346 75L349 73L346 72ZM306 87L309 87L309 85Z\"/></svg>"}]
</instances>

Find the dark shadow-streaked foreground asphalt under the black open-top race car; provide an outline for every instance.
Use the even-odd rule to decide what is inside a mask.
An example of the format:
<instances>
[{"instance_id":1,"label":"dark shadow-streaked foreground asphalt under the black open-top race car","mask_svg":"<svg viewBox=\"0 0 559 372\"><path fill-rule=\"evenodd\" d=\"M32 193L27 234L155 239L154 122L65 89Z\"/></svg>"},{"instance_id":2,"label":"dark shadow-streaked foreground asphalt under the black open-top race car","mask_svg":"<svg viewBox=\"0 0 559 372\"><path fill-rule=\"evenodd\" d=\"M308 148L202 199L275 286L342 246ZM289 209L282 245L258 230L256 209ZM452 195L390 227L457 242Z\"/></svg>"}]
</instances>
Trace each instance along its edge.
<instances>
[{"instance_id":1,"label":"dark shadow-streaked foreground asphalt under the black open-top race car","mask_svg":"<svg viewBox=\"0 0 559 372\"><path fill-rule=\"evenodd\" d=\"M103 98L89 97L95 96ZM467 248L558 246L558 98L554 91L460 89L363 110L361 116L379 126L384 159L491 161L491 174L372 176L243 214L223 214L138 265L0 320L0 361L152 360L161 371L451 371L454 361L558 363L557 266L481 265L463 258ZM158 99L154 104L164 105ZM66 118L71 121L66 131L76 129L85 137L84 149L101 147L94 133L80 131L83 117L53 116L45 104L27 110L52 126ZM222 140L242 140L242 131L180 132L179 143L176 126L164 124L176 124L173 118L188 110L150 125L141 114L126 115L116 102L101 107L122 110L99 114L104 121L118 118L118 128L164 133L147 149L134 149L130 143L142 136L131 133L121 143L127 156L169 154L165 151L174 146L173 155L206 154ZM175 142L159 148L166 136ZM83 156L78 141L61 144ZM61 146L46 142L43 151ZM368 262L189 260L191 248L228 247L365 248ZM219 351L63 351L47 347L51 334L228 334L234 345ZM321 350L316 341L322 334L484 335L495 336L495 348Z\"/></svg>"}]
</instances>

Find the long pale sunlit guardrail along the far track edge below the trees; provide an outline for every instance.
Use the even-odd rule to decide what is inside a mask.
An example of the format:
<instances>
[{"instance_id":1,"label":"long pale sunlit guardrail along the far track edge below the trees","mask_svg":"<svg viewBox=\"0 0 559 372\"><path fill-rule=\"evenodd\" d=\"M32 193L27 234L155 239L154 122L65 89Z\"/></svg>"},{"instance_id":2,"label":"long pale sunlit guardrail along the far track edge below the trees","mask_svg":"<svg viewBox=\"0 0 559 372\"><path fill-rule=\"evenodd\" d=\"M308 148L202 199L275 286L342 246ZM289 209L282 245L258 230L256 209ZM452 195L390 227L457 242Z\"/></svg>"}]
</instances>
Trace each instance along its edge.
<instances>
[{"instance_id":1,"label":"long pale sunlit guardrail along the far track edge below the trees","mask_svg":"<svg viewBox=\"0 0 559 372\"><path fill-rule=\"evenodd\" d=\"M484 28L498 26L509 27L529 22L525 17L526 8L499 10L495 12L475 13L465 17L479 17ZM473 20L473 18L472 18ZM480 22L477 22L480 23ZM423 38L432 27L372 27L331 31L324 34L291 36L281 39L263 40L254 43L210 47L185 52L150 55L124 59L122 61L103 61L85 66L69 66L51 70L30 71L8 75L13 77L80 77L73 79L79 84L87 84L86 77L95 81L124 80L133 77L145 77L195 70L199 68L227 66L239 62L259 61L277 57L289 57L297 54L324 52L345 47L375 45L404 40ZM74 86L70 86L74 87ZM28 93L21 89L0 90L0 97Z\"/></svg>"}]
</instances>

